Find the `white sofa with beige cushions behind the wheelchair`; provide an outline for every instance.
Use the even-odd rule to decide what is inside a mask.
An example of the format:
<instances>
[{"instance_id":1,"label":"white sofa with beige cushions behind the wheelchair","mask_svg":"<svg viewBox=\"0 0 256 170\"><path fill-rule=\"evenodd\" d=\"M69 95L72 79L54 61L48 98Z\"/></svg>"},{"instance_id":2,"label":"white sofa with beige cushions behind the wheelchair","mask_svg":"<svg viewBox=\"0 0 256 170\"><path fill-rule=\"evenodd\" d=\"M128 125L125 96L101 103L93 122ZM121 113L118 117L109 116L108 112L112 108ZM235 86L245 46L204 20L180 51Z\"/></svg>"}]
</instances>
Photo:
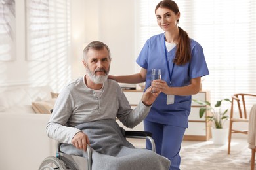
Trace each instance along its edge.
<instances>
[{"instance_id":1,"label":"white sofa with beige cushions behind the wheelchair","mask_svg":"<svg viewBox=\"0 0 256 170\"><path fill-rule=\"evenodd\" d=\"M0 88L0 169L38 169L56 154L45 128L55 94L49 86Z\"/></svg>"}]
</instances>

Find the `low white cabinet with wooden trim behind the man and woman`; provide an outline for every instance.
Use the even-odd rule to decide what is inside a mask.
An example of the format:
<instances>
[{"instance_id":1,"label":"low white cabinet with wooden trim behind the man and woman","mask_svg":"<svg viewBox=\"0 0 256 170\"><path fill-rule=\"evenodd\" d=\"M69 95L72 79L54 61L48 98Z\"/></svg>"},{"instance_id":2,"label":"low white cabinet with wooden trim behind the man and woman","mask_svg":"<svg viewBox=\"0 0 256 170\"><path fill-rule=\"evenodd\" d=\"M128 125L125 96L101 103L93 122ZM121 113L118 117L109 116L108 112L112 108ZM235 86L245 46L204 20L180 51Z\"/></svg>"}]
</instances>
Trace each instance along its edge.
<instances>
[{"instance_id":1,"label":"low white cabinet with wooden trim behind the man and woman","mask_svg":"<svg viewBox=\"0 0 256 170\"><path fill-rule=\"evenodd\" d=\"M131 107L136 107L139 103L143 91L142 90L123 90L125 96L127 97ZM202 100L202 101L209 101L209 93L205 91L201 91L196 95L192 95L192 99ZM199 109L200 105L194 103L192 101L191 112L188 118L188 129L186 129L184 140L188 141L207 141L211 139L211 122L207 122L205 118L199 117ZM206 115L209 115L207 112ZM117 121L118 122L118 121ZM120 123L120 122L118 122ZM119 124L121 126L121 124ZM123 127L123 126L121 126ZM127 128L125 128L127 129ZM144 131L143 123L140 123L134 129L129 130L138 130Z\"/></svg>"}]
</instances>

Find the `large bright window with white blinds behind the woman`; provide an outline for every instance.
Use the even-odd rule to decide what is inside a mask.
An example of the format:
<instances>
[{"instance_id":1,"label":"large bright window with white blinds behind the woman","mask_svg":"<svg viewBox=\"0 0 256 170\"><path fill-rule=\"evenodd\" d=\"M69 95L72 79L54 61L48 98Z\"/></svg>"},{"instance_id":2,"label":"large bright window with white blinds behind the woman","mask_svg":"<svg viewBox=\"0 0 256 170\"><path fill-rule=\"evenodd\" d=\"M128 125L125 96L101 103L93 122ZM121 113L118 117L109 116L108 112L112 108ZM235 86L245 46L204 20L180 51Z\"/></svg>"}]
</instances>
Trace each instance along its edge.
<instances>
[{"instance_id":1,"label":"large bright window with white blinds behind the woman","mask_svg":"<svg viewBox=\"0 0 256 170\"><path fill-rule=\"evenodd\" d=\"M154 8L158 2L136 2L137 55L146 39L163 33L154 16ZM211 102L215 103L224 97L231 98L234 93L255 94L256 1L175 2L181 12L179 27L203 47L210 75L202 78L202 88L211 92ZM251 101L252 103L255 101Z\"/></svg>"}]
</instances>

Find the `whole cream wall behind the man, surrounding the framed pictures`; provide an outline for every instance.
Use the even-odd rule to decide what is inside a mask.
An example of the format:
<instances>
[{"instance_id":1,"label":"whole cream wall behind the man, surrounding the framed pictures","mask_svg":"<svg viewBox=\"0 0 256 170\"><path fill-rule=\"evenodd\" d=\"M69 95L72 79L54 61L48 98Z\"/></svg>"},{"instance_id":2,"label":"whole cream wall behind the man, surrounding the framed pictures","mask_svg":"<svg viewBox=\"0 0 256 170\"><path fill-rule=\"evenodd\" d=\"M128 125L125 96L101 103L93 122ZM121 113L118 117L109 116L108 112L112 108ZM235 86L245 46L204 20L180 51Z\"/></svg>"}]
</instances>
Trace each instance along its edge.
<instances>
[{"instance_id":1,"label":"whole cream wall behind the man, surrounding the framed pictures","mask_svg":"<svg viewBox=\"0 0 256 170\"><path fill-rule=\"evenodd\" d=\"M60 67L54 63L57 59L26 61L25 0L16 1L16 60L0 61L0 86L50 84L58 91L66 80L84 75L82 50L95 40L110 47L110 74L134 73L134 3L135 0L72 0L70 56ZM70 74L70 78L60 76L63 71ZM52 75L54 78L49 78Z\"/></svg>"}]
</instances>

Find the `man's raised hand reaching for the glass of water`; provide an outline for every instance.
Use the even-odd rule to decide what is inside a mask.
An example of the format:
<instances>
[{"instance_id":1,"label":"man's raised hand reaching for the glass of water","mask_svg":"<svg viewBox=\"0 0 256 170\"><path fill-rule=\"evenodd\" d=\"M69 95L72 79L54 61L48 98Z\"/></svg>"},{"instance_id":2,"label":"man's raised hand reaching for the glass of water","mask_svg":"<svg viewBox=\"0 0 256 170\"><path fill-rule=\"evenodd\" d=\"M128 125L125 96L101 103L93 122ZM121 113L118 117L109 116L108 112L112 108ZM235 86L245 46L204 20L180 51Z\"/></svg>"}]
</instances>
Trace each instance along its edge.
<instances>
[{"instance_id":1,"label":"man's raised hand reaching for the glass of water","mask_svg":"<svg viewBox=\"0 0 256 170\"><path fill-rule=\"evenodd\" d=\"M142 102L146 106L152 105L152 103L156 100L156 97L161 93L158 88L154 88L154 93L152 93L152 87L146 89L144 94L142 95Z\"/></svg>"}]
</instances>

